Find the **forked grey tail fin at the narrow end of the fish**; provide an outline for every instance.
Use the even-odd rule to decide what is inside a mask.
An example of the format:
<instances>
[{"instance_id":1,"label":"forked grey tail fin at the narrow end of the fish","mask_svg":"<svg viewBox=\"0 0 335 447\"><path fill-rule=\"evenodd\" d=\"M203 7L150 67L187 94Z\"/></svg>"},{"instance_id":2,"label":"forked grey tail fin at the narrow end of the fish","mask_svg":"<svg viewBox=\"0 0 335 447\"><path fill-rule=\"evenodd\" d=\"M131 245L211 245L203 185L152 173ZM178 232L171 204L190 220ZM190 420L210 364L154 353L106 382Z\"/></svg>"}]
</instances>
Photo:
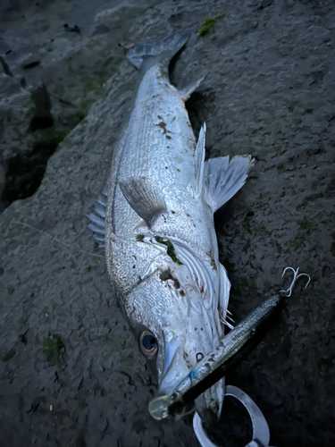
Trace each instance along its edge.
<instances>
[{"instance_id":1,"label":"forked grey tail fin at the narrow end of the fish","mask_svg":"<svg viewBox=\"0 0 335 447\"><path fill-rule=\"evenodd\" d=\"M162 55L162 62L168 65L172 57L186 44L190 35L190 32L177 33L168 38L164 38L159 44L133 46L127 53L127 59L132 65L139 69L144 60L148 57Z\"/></svg>"}]
</instances>

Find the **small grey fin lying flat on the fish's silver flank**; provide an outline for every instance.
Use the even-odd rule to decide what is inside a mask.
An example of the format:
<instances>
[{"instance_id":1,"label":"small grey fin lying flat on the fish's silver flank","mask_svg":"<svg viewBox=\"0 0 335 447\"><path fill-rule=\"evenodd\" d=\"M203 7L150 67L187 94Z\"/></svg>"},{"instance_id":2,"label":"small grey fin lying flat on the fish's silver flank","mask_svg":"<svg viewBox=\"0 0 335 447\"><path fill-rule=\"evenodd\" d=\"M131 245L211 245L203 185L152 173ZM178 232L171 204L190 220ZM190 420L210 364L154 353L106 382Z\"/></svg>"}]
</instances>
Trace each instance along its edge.
<instances>
[{"instance_id":1,"label":"small grey fin lying flat on the fish's silver flank","mask_svg":"<svg viewBox=\"0 0 335 447\"><path fill-rule=\"evenodd\" d=\"M147 177L129 177L119 183L130 207L151 227L158 215L166 212L163 195Z\"/></svg>"}]
</instances>

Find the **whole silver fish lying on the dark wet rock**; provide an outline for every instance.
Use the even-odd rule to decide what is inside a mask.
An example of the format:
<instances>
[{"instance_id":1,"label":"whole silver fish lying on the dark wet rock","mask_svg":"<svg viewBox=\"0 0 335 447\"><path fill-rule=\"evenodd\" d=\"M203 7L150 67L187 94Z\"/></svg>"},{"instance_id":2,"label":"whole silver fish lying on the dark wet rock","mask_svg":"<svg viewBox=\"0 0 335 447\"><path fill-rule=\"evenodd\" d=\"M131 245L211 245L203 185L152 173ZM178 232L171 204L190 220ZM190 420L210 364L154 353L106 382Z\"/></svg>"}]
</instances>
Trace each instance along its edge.
<instances>
[{"instance_id":1,"label":"whole silver fish lying on the dark wet rock","mask_svg":"<svg viewBox=\"0 0 335 447\"><path fill-rule=\"evenodd\" d=\"M132 46L138 69L130 116L113 148L105 189L88 227L105 248L112 291L141 353L170 394L224 336L230 281L219 260L214 213L244 185L251 156L205 161L185 102L203 78L177 89L168 67L190 33ZM221 416L224 378L196 400L204 420Z\"/></svg>"}]
</instances>

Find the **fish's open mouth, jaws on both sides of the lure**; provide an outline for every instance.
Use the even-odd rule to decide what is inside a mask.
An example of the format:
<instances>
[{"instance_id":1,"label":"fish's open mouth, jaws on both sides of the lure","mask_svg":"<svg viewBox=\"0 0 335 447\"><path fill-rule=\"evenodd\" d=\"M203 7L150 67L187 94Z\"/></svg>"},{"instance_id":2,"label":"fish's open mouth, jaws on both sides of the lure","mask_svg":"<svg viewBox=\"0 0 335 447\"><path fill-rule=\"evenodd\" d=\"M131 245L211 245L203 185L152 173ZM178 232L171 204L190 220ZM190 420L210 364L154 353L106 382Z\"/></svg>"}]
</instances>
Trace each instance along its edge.
<instances>
[{"instance_id":1,"label":"fish's open mouth, jaws on both sides of the lure","mask_svg":"<svg viewBox=\"0 0 335 447\"><path fill-rule=\"evenodd\" d=\"M196 366L197 360L190 363L185 355L184 337L174 337L165 346L163 378L159 386L160 394L171 395L178 384ZM212 423L221 417L224 399L224 378L201 394L195 401L195 409L207 423Z\"/></svg>"}]
</instances>

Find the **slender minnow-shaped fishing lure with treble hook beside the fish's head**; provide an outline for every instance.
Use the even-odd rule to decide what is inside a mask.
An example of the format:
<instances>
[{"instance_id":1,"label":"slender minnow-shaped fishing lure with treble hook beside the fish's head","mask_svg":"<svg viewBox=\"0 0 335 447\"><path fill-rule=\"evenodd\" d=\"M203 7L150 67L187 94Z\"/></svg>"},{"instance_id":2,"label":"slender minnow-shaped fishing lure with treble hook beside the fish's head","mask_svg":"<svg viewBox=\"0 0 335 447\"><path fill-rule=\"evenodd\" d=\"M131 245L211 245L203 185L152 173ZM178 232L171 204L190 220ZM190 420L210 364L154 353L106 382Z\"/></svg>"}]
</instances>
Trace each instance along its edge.
<instances>
[{"instance_id":1,"label":"slender minnow-shaped fishing lure with treble hook beside the fish's head","mask_svg":"<svg viewBox=\"0 0 335 447\"><path fill-rule=\"evenodd\" d=\"M179 418L185 413L184 408L192 407L193 401L199 394L215 384L218 377L226 374L231 367L236 365L237 361L255 349L255 346L264 338L273 317L278 314L285 299L290 297L297 279L301 276L307 277L305 289L311 281L308 274L299 274L299 267L297 270L286 267L282 276L288 270L293 272L293 281L289 289L272 295L243 318L239 325L236 325L230 333L223 337L216 348L181 380L170 396L161 396L151 401L149 413L152 417L157 420L169 415Z\"/></svg>"}]
</instances>

